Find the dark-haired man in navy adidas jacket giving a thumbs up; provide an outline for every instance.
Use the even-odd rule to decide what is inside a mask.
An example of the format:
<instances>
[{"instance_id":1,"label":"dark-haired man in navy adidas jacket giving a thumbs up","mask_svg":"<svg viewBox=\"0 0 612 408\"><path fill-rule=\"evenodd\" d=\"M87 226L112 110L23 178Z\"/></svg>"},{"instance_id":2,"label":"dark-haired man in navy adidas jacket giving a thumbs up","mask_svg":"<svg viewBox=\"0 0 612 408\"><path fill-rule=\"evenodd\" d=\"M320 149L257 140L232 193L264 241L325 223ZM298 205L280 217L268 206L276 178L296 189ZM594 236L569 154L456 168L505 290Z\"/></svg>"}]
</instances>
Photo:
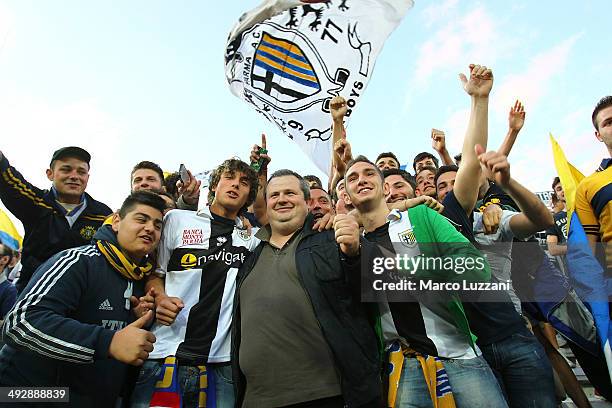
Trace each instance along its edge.
<instances>
[{"instance_id":1,"label":"dark-haired man in navy adidas jacket giving a thumbs up","mask_svg":"<svg viewBox=\"0 0 612 408\"><path fill-rule=\"evenodd\" d=\"M155 342L143 329L153 299L138 296L164 208L156 194L133 193L90 245L37 269L6 317L0 386L69 387L71 406L115 406L126 364L142 365Z\"/></svg>"}]
</instances>

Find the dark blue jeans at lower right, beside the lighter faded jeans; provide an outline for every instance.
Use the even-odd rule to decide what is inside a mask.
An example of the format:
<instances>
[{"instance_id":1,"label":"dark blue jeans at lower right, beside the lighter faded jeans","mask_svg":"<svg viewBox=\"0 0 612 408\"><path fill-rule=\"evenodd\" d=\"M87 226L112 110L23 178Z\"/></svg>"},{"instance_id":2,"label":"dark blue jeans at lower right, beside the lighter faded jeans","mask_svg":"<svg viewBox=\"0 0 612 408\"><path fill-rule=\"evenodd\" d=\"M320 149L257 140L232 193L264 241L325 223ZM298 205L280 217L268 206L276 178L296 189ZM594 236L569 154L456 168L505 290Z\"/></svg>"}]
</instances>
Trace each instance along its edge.
<instances>
[{"instance_id":1,"label":"dark blue jeans at lower right, beside the lighter faded jeans","mask_svg":"<svg viewBox=\"0 0 612 408\"><path fill-rule=\"evenodd\" d=\"M542 345L527 329L480 349L510 407L557 406L550 362Z\"/></svg>"}]
</instances>

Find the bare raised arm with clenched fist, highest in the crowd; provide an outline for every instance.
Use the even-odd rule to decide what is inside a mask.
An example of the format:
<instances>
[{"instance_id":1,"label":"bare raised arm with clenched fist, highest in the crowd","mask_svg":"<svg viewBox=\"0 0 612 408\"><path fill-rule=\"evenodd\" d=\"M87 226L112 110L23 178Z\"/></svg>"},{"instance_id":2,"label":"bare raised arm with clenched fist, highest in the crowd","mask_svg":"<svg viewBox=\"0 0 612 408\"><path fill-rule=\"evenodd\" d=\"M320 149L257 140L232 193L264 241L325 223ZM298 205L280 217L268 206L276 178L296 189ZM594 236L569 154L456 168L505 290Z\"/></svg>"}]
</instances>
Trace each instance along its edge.
<instances>
[{"instance_id":1,"label":"bare raised arm with clenched fist, highest in the crowd","mask_svg":"<svg viewBox=\"0 0 612 408\"><path fill-rule=\"evenodd\" d=\"M474 146L487 145L489 124L489 93L493 87L493 72L485 66L470 65L470 78L459 74L463 89L471 97L468 128L461 150L461 166L457 172L453 191L457 201L470 214L478 198L480 162Z\"/></svg>"}]
</instances>

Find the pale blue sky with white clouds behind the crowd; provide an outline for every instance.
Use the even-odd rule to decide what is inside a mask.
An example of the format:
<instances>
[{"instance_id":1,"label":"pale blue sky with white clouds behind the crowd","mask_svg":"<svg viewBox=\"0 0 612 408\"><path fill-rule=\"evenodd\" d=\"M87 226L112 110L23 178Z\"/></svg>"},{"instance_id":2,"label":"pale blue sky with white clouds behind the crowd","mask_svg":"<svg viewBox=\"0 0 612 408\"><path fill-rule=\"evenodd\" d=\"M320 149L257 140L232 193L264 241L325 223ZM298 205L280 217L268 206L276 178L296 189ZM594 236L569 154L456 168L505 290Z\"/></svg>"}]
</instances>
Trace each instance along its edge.
<instances>
[{"instance_id":1,"label":"pale blue sky with white clouds behind the crowd","mask_svg":"<svg viewBox=\"0 0 612 408\"><path fill-rule=\"evenodd\" d=\"M357 0L349 0L357 1ZM225 40L258 1L0 1L0 149L31 182L51 152L77 144L93 156L88 192L111 207L129 193L140 160L194 170L247 159L268 135L272 168L323 176L289 139L225 83ZM351 116L354 153L392 150L411 162L431 150L432 127L459 152L469 98L457 74L491 66L489 145L519 98L525 127L513 176L548 190L548 132L590 173L607 152L593 135L594 104L612 90L608 1L415 1L391 35Z\"/></svg>"}]
</instances>

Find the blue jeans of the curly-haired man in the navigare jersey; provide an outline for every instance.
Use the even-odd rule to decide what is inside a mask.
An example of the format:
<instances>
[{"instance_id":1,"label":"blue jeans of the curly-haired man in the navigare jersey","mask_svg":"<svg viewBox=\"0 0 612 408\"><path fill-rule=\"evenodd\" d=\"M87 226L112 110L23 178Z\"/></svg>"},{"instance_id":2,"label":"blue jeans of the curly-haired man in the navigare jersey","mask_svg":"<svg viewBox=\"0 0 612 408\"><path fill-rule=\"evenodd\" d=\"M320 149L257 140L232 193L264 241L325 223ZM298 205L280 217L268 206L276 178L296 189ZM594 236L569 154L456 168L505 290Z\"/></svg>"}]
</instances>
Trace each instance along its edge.
<instances>
[{"instance_id":1,"label":"blue jeans of the curly-haired man in the navigare jersey","mask_svg":"<svg viewBox=\"0 0 612 408\"><path fill-rule=\"evenodd\" d=\"M155 391L155 383L161 372L162 364L163 360L147 360L142 365L134 391L132 392L130 407L149 408L149 402L151 401L153 391ZM232 366L229 364L208 364L207 367L214 371L217 379L215 387L217 407L233 408L236 397L232 382ZM198 406L198 397L200 395L199 375L200 370L198 367L179 365L178 380L183 394L183 407L185 408Z\"/></svg>"}]
</instances>

